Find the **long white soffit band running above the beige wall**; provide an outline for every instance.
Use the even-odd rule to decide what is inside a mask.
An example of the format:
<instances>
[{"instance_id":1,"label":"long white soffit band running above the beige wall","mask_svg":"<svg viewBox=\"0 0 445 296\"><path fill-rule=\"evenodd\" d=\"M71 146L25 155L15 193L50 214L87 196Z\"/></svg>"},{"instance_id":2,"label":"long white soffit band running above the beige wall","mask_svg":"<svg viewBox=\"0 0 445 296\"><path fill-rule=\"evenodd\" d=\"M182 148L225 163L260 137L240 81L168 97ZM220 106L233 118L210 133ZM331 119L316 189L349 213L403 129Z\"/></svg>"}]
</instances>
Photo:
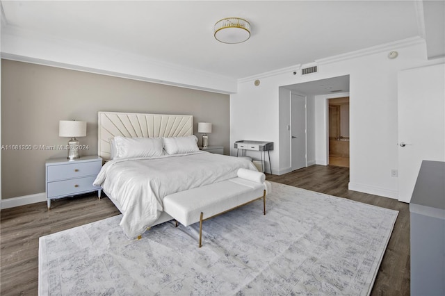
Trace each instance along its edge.
<instances>
[{"instance_id":1,"label":"long white soffit band running above the beige wall","mask_svg":"<svg viewBox=\"0 0 445 296\"><path fill-rule=\"evenodd\" d=\"M223 94L236 92L233 77L15 26L2 26L1 40L1 58L8 60Z\"/></svg>"}]
</instances>

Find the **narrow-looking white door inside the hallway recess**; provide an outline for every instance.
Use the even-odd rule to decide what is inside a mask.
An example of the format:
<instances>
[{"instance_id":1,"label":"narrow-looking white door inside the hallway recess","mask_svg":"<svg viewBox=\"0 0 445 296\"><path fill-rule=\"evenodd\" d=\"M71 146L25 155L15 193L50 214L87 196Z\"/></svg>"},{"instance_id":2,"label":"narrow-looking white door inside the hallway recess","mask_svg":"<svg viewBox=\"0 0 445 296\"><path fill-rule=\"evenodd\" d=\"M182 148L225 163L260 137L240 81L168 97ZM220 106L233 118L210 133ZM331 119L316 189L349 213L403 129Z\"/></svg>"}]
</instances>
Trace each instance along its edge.
<instances>
[{"instance_id":1,"label":"narrow-looking white door inside the hallway recess","mask_svg":"<svg viewBox=\"0 0 445 296\"><path fill-rule=\"evenodd\" d=\"M291 94L291 167L298 170L306 161L306 97Z\"/></svg>"}]
</instances>

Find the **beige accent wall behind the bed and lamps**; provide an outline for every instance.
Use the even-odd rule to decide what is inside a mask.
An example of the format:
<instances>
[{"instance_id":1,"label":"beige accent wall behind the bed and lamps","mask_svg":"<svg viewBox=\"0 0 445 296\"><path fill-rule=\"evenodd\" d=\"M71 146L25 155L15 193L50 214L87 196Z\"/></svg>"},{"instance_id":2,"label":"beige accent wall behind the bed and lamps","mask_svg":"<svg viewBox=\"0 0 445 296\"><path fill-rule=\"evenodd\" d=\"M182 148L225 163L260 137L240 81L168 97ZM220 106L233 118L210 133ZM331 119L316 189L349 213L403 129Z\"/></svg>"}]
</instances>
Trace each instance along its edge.
<instances>
[{"instance_id":1,"label":"beige accent wall behind the bed and lamps","mask_svg":"<svg viewBox=\"0 0 445 296\"><path fill-rule=\"evenodd\" d=\"M66 145L58 137L59 120L87 122L87 136L79 138L97 154L97 112L193 115L211 122L210 145L229 152L229 95L121 79L113 76L47 67L12 60L1 61L1 190L2 198L44 192L47 158L66 157L66 151L9 150L9 145ZM199 142L199 144L200 144Z\"/></svg>"}]
</instances>

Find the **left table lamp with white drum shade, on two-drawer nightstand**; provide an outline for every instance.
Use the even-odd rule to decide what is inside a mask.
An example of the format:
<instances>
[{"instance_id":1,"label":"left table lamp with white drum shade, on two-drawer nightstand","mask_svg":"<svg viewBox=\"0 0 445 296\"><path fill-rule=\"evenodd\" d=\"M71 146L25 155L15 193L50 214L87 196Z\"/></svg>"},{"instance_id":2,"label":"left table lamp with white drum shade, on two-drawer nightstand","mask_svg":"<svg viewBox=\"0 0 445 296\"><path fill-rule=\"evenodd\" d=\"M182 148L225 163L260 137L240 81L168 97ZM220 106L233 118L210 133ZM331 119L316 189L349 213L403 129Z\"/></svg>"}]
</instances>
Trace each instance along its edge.
<instances>
[{"instance_id":1,"label":"left table lamp with white drum shade, on two-drawer nightstand","mask_svg":"<svg viewBox=\"0 0 445 296\"><path fill-rule=\"evenodd\" d=\"M76 137L86 136L86 122L77 122L75 120L60 120L58 123L58 136L70 137L68 141L68 159L74 161L79 156L79 141Z\"/></svg>"}]
</instances>

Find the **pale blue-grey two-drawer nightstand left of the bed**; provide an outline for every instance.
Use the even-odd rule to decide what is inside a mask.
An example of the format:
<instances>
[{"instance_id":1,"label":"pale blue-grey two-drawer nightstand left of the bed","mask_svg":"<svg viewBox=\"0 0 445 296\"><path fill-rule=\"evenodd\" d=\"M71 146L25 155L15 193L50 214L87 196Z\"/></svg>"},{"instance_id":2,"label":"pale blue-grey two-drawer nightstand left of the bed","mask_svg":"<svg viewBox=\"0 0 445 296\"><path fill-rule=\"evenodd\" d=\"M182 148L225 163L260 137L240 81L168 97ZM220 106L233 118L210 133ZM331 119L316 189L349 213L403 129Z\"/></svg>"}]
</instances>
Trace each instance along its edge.
<instances>
[{"instance_id":1,"label":"pale blue-grey two-drawer nightstand left of the bed","mask_svg":"<svg viewBox=\"0 0 445 296\"><path fill-rule=\"evenodd\" d=\"M102 158L99 156L85 156L75 161L68 161L67 158L48 159L45 163L48 209L51 207L51 199L92 191L97 191L100 198L102 188L93 186L92 182L101 167Z\"/></svg>"}]
</instances>

